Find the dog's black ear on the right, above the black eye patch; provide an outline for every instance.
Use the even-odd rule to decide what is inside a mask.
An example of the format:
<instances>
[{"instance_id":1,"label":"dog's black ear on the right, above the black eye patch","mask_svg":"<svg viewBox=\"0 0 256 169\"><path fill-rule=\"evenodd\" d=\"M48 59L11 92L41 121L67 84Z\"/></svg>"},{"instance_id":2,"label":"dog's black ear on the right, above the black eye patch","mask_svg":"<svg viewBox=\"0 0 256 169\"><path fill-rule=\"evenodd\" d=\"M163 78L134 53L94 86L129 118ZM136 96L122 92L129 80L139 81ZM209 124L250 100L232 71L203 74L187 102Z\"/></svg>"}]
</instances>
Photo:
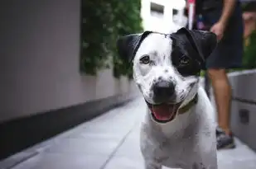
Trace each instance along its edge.
<instances>
[{"instance_id":1,"label":"dog's black ear on the right, above the black eye patch","mask_svg":"<svg viewBox=\"0 0 256 169\"><path fill-rule=\"evenodd\" d=\"M185 27L182 27L173 35L185 35L186 39L189 40L191 47L196 49L196 53L200 56L201 63L205 63L205 59L210 56L217 45L217 37L210 31L188 30Z\"/></svg>"}]
</instances>

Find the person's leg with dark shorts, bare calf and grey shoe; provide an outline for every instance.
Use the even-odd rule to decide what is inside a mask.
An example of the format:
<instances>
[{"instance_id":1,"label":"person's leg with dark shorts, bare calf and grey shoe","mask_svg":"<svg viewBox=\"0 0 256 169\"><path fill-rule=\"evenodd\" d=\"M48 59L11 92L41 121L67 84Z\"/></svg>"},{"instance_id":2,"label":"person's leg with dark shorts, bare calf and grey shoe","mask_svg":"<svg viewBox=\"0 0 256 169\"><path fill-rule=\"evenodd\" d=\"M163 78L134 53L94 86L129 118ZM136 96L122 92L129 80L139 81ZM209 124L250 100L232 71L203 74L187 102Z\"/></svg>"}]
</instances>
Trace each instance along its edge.
<instances>
[{"instance_id":1,"label":"person's leg with dark shorts, bare calf and grey shoe","mask_svg":"<svg viewBox=\"0 0 256 169\"><path fill-rule=\"evenodd\" d=\"M209 15L209 18L218 16L218 14L213 15ZM242 9L237 2L233 16L229 19L229 26L226 27L225 36L218 43L215 52L206 59L206 68L214 89L218 113L219 126L216 128L218 149L235 148L229 125L231 87L225 69L239 68L242 65L243 35Z\"/></svg>"}]
</instances>

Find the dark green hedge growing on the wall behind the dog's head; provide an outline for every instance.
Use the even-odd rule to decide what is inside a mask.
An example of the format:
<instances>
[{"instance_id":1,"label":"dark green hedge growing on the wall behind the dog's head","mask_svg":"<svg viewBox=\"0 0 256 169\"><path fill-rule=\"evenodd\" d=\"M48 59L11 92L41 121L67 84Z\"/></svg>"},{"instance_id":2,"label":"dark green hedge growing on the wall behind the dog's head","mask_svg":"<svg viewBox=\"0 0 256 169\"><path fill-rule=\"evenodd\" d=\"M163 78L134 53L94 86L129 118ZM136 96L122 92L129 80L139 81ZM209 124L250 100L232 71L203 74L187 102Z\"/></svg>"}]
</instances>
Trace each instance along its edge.
<instances>
[{"instance_id":1,"label":"dark green hedge growing on the wall behind the dog's head","mask_svg":"<svg viewBox=\"0 0 256 169\"><path fill-rule=\"evenodd\" d=\"M118 58L116 40L142 31L140 9L140 0L82 0L81 72L95 75L112 64L114 77L132 77L129 63Z\"/></svg>"}]
</instances>

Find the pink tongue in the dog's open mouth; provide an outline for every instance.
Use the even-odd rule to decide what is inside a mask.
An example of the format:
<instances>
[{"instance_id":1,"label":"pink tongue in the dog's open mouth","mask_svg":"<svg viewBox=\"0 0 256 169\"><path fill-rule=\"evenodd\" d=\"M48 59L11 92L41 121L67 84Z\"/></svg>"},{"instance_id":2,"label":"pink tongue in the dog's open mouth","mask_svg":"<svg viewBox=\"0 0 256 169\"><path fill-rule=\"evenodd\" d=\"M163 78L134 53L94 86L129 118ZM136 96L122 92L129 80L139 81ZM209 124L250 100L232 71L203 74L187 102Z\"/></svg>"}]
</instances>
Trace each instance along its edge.
<instances>
[{"instance_id":1,"label":"pink tongue in the dog's open mouth","mask_svg":"<svg viewBox=\"0 0 256 169\"><path fill-rule=\"evenodd\" d=\"M176 115L176 106L167 104L152 106L152 113L157 120L173 120Z\"/></svg>"}]
</instances>

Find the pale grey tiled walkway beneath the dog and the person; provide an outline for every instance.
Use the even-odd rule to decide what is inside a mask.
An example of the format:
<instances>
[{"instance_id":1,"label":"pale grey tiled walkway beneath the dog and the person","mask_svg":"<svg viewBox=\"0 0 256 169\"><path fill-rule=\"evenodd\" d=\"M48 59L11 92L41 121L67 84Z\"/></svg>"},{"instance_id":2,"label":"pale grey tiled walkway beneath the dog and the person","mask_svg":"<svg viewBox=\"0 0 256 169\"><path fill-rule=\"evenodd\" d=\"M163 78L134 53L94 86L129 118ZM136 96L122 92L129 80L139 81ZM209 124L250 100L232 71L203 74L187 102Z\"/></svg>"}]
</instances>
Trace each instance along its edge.
<instances>
[{"instance_id":1,"label":"pale grey tiled walkway beneath the dog and the person","mask_svg":"<svg viewBox=\"0 0 256 169\"><path fill-rule=\"evenodd\" d=\"M145 113L142 98L111 110L0 162L0 169L142 169L139 126ZM238 147L218 153L220 169L255 169L256 154Z\"/></svg>"}]
</instances>

